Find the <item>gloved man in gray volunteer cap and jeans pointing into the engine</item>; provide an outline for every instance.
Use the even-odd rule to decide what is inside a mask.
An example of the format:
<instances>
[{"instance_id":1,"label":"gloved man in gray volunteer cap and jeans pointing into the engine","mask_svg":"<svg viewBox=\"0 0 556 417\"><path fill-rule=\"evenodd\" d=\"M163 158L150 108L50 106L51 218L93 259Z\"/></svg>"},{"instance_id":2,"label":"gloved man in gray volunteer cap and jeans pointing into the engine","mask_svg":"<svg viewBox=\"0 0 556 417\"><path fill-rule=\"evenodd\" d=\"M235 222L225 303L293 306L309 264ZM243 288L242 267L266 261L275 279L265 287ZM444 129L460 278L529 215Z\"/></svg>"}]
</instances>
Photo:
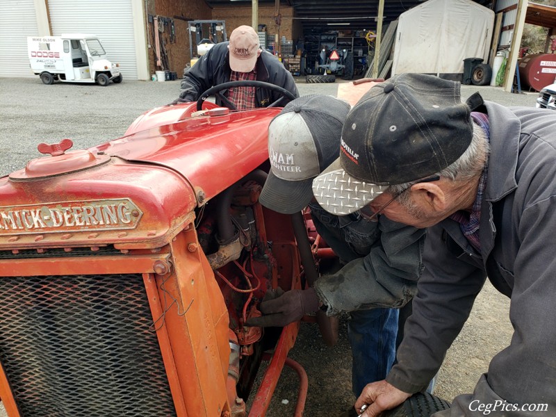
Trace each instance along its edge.
<instances>
[{"instance_id":1,"label":"gloved man in gray volunteer cap and jeans pointing into the engine","mask_svg":"<svg viewBox=\"0 0 556 417\"><path fill-rule=\"evenodd\" d=\"M384 216L330 215L311 202L313 179L338 158L348 111L349 104L334 97L302 96L270 123L271 170L259 201L285 214L309 205L317 231L345 266L317 279L313 288L263 302L263 316L247 324L284 326L319 306L331 316L350 312L352 389L357 396L368 382L384 379L395 359L398 310L391 307L404 306L414 295L425 232Z\"/></svg>"}]
</instances>

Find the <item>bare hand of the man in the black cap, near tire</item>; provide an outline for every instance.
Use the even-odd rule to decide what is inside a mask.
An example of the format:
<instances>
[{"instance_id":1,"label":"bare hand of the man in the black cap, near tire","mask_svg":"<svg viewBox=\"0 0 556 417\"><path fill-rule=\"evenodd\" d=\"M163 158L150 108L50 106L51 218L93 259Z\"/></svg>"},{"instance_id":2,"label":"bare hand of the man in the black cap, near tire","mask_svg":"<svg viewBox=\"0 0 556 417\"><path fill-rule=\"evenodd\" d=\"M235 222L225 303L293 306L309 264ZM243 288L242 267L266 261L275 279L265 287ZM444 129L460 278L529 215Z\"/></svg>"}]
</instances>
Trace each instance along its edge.
<instances>
[{"instance_id":1,"label":"bare hand of the man in the black cap, near tire","mask_svg":"<svg viewBox=\"0 0 556 417\"><path fill-rule=\"evenodd\" d=\"M367 409L361 414L361 417L375 417L382 411L393 409L402 404L411 394L404 393L395 386L389 384L384 379L378 382L367 384L357 401L355 409L361 411L361 407L367 404Z\"/></svg>"}]
</instances>

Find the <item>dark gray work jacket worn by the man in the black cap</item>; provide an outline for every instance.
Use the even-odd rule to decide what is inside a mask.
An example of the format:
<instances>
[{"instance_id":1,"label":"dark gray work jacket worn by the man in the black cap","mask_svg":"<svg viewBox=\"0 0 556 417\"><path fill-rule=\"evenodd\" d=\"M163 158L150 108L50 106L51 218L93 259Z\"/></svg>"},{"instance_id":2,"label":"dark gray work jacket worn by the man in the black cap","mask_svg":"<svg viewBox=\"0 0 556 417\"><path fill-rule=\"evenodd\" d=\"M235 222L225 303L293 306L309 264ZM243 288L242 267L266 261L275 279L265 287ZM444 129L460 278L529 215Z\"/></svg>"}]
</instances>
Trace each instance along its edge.
<instances>
[{"instance_id":1,"label":"dark gray work jacket worn by the man in the black cap","mask_svg":"<svg viewBox=\"0 0 556 417\"><path fill-rule=\"evenodd\" d=\"M546 415L556 416L556 112L490 102L486 110L491 154L481 251L454 220L427 229L425 270L386 380L407 393L426 388L488 276L511 298L512 341L493 357L473 394L457 396L434 417L477 416L479 404L502 400L512 407L490 416L543 414L522 410L523 404L548 404Z\"/></svg>"}]
</instances>

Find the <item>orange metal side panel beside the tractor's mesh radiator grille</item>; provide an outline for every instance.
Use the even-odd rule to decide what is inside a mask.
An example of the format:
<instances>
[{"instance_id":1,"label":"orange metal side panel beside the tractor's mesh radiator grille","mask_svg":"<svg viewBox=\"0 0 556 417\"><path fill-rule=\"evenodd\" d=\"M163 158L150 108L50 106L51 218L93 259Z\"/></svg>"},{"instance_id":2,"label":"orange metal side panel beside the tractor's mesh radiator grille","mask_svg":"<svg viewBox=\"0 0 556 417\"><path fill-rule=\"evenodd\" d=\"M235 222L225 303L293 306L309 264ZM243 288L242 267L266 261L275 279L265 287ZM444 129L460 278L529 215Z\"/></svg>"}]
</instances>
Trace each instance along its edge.
<instances>
[{"instance_id":1,"label":"orange metal side panel beside the tractor's mesh radiator grille","mask_svg":"<svg viewBox=\"0 0 556 417\"><path fill-rule=\"evenodd\" d=\"M174 273L157 278L164 313L155 326L167 329L188 416L220 416L230 411L228 311L206 257L188 250L192 242L189 227L171 243Z\"/></svg>"}]
</instances>

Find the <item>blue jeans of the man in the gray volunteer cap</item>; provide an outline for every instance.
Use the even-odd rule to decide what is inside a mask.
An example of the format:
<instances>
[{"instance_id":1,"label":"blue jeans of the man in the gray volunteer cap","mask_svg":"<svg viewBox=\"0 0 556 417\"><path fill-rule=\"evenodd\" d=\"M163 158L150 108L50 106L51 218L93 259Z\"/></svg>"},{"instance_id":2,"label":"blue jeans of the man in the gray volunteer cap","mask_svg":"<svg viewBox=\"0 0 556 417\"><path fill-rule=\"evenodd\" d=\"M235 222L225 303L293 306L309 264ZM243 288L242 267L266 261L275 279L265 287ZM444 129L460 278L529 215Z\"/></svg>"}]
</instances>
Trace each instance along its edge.
<instances>
[{"instance_id":1,"label":"blue jeans of the man in the gray volunteer cap","mask_svg":"<svg viewBox=\"0 0 556 417\"><path fill-rule=\"evenodd\" d=\"M347 335L352 347L352 391L359 397L370 382L386 377L395 360L397 309L352 311Z\"/></svg>"}]
</instances>

